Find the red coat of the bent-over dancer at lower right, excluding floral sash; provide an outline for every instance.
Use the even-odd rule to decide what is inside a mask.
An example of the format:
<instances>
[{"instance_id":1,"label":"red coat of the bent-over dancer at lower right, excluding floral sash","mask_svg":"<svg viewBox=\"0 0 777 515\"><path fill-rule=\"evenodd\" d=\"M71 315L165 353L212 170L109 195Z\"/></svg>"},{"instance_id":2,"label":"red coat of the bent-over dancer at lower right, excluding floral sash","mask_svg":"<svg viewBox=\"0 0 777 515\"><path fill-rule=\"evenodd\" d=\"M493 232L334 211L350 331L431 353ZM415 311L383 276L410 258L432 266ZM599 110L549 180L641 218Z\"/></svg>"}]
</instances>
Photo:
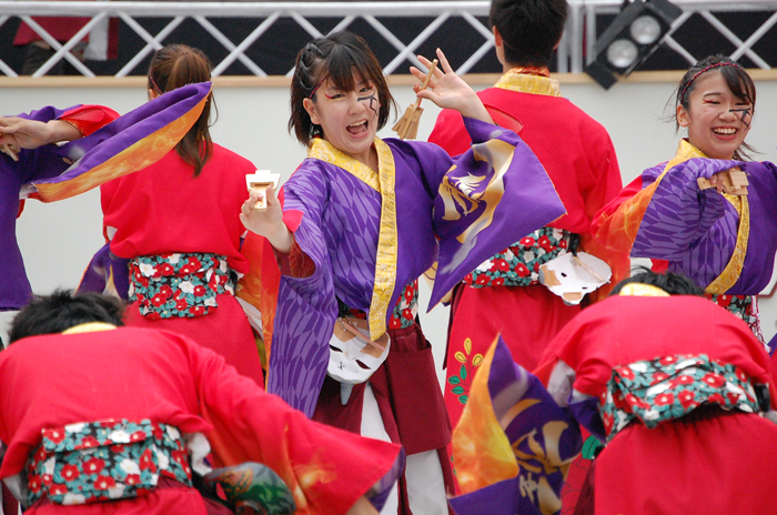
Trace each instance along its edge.
<instances>
[{"instance_id":1,"label":"red coat of the bent-over dancer at lower right, excluding floral sash","mask_svg":"<svg viewBox=\"0 0 777 515\"><path fill-rule=\"evenodd\" d=\"M706 355L737 366L754 384L768 383L775 410L776 377L764 345L744 322L702 297L607 299L564 327L536 372L547 384L563 361L575 372L574 390L597 400L615 367L677 355ZM599 416L595 406L589 411ZM758 414L672 420L654 428L632 423L596 457L593 502L579 513L777 513L775 463L777 424Z\"/></svg>"}]
</instances>

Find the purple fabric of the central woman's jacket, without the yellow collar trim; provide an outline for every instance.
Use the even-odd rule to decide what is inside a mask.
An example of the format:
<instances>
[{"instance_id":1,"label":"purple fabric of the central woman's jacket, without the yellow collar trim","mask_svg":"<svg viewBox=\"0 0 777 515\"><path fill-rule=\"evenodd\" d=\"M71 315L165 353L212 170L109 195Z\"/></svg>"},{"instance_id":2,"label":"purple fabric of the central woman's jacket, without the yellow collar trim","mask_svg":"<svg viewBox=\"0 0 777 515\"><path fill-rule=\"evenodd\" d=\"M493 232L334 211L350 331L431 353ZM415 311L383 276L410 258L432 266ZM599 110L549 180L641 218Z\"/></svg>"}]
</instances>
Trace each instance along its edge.
<instances>
[{"instance_id":1,"label":"purple fabric of the central woman's jacket, without the yellow collar trim","mask_svg":"<svg viewBox=\"0 0 777 515\"><path fill-rule=\"evenodd\" d=\"M461 263L438 273L433 300L495 252L564 213L545 170L515 133L475 120L467 120L467 129L475 143L498 138L514 145L515 154L505 179L505 200L498 203L491 226L480 233ZM462 246L448 240L455 240L481 214L475 211L470 219L443 220L438 189L445 173L454 164L456 174L493 175L493 170L475 162L472 150L452 159L430 143L393 139L385 143L396 166L398 234L394 292L384 314L387 322L403 286L437 258L444 270ZM303 214L294 238L315 263L315 272L304 279L281 279L268 391L312 416L326 374L327 343L337 315L335 296L356 310L370 309L381 195L347 171L315 159L303 161L283 190L284 210ZM532 206L528 214L527 205ZM437 238L443 246L440 253Z\"/></svg>"}]
</instances>

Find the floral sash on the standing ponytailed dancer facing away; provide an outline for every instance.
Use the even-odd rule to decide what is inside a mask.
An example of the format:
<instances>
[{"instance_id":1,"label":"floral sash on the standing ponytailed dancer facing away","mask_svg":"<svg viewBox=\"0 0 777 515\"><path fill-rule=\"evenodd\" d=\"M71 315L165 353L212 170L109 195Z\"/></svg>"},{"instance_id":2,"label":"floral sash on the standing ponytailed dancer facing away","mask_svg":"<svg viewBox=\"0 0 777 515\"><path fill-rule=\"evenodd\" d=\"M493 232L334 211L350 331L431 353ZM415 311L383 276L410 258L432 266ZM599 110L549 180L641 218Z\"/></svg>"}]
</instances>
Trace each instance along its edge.
<instances>
[{"instance_id":1,"label":"floral sash on the standing ponytailed dancer facing away","mask_svg":"<svg viewBox=\"0 0 777 515\"><path fill-rule=\"evenodd\" d=\"M143 255L130 263L130 301L140 301L140 313L149 319L206 315L224 292L234 294L223 255Z\"/></svg>"}]
</instances>

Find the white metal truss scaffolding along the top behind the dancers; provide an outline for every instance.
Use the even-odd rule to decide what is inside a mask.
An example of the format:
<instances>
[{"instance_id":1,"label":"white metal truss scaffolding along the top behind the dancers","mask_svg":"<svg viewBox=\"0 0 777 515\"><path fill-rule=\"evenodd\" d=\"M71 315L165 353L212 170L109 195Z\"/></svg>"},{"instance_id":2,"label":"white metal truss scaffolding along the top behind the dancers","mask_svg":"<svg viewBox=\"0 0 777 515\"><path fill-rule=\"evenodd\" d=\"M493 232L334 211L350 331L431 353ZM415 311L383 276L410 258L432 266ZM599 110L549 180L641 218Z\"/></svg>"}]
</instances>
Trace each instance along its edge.
<instances>
[{"instance_id":1,"label":"white metal truss scaffolding along the top behind the dancers","mask_svg":"<svg viewBox=\"0 0 777 515\"><path fill-rule=\"evenodd\" d=\"M585 63L592 59L597 31L607 17L618 12L622 0L568 0L569 17L567 27L558 48L556 70L561 73L582 72ZM775 37L771 31L777 23L777 1L715 1L715 0L674 0L677 7L683 9L683 14L672 27L664 39L664 48L679 55L688 63L694 63L697 58L704 57L693 52L704 51L716 53L715 48L688 49L689 44L680 43L678 34L692 24L698 31L699 22L705 23L705 34L715 33L727 42L727 51L734 59L746 58L748 63L761 69L770 69L777 64L777 57L761 55L764 50L757 49L757 43ZM122 63L115 77L127 77L135 71L154 50L162 48L168 38L188 20L193 20L201 27L212 42L225 49L226 54L219 62L214 62L213 75L223 74L233 63L240 62L248 72L256 77L266 77L262 62L249 57L249 50L263 37L272 39L270 29L284 22L293 22L301 29L305 38L311 39L323 36L321 20L335 20L334 26L329 24L326 32L342 30L352 27L357 20L366 23L392 49L394 54L384 64L386 74L404 72L403 63L410 62L420 65L415 53L432 38L438 38L438 31L445 31L444 26L456 20L456 27L467 29L466 33L460 30L447 30L446 44L455 44L457 38L466 38L468 41L467 54L457 65L457 73L467 73L486 55L491 54L493 38L487 27L487 1L369 1L369 2L180 2L180 1L0 1L0 26L7 23L13 17L20 18L43 41L54 50L54 54L34 73L33 77L44 75L59 61L67 60L81 74L94 77L87 64L71 53L73 48L83 37L99 23L104 23L109 18L119 18L138 37L142 39L137 53ZM757 12L761 13L759 24L751 27L749 34L743 34L741 30L733 30L727 27L726 20L733 13ZM85 17L91 20L78 31L73 38L60 43L51 37L32 17ZM248 36L234 34L224 30L223 23L218 27L219 19L246 19L253 29ZM153 19L155 26L162 29L151 33L141 21ZM410 20L428 20L415 33L408 34ZM139 21L141 20L141 21ZM689 23L689 20L694 20ZM190 21L191 22L191 21ZM417 23L416 23L417 26ZM402 30L397 30L402 28ZM748 29L749 30L749 29ZM225 33L228 32L228 33ZM739 34L737 34L739 32ZM436 34L436 36L435 36ZM236 40L235 40L236 39ZM263 44L272 44L272 41L263 40ZM693 40L698 40L694 38ZM688 40L686 34L685 40ZM301 48L301 41L296 48ZM696 46L697 47L697 46ZM761 44L765 47L765 44ZM134 51L134 50L133 50ZM2 55L2 53L0 53ZM775 62L770 63L769 60ZM265 67L266 68L266 67ZM498 71L498 70L493 70ZM0 59L0 72L9 77L17 77L11 65ZM289 71L291 73L291 71ZM286 74L289 74L286 73ZM273 73L276 74L276 73Z\"/></svg>"}]
</instances>

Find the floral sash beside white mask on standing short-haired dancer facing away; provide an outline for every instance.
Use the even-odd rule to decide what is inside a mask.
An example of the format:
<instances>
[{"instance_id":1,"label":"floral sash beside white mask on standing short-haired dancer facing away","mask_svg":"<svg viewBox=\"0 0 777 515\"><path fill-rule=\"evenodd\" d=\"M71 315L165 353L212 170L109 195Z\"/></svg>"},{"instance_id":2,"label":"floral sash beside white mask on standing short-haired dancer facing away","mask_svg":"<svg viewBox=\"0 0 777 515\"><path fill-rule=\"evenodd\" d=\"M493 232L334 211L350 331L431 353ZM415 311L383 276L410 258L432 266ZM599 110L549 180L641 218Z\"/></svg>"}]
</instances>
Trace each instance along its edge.
<instances>
[{"instance_id":1,"label":"floral sash beside white mask on standing short-haired dancer facing away","mask_svg":"<svg viewBox=\"0 0 777 515\"><path fill-rule=\"evenodd\" d=\"M484 261L464 283L472 287L539 284L539 266L566 253L569 235L562 229L538 229Z\"/></svg>"}]
</instances>

